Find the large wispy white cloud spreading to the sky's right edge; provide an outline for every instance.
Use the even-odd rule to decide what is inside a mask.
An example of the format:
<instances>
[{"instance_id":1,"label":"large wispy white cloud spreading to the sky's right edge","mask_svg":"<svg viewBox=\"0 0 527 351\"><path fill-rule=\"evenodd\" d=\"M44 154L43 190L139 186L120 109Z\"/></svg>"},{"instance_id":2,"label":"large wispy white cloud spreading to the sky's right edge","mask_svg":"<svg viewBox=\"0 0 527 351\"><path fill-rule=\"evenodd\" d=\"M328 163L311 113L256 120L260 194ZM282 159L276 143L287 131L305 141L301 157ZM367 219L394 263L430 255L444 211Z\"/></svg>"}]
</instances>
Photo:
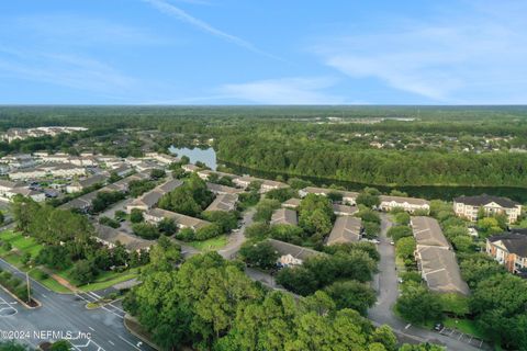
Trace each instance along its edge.
<instances>
[{"instance_id":1,"label":"large wispy white cloud spreading to the sky's right edge","mask_svg":"<svg viewBox=\"0 0 527 351\"><path fill-rule=\"evenodd\" d=\"M507 3L326 38L314 52L348 77L374 78L433 102L525 103L527 83L518 77L527 77L527 4L515 2L523 11L513 13Z\"/></svg>"}]
</instances>

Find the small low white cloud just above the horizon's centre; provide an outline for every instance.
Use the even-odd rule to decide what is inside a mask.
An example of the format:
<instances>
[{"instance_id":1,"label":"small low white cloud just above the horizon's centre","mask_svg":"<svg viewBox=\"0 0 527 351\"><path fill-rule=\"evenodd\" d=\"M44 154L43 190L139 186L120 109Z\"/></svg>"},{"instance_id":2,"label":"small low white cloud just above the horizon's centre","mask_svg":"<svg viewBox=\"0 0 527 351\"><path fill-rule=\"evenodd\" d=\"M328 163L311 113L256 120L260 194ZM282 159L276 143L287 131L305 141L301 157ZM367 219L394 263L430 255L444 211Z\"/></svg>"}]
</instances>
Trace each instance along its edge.
<instances>
[{"instance_id":1,"label":"small low white cloud just above the horizon's centre","mask_svg":"<svg viewBox=\"0 0 527 351\"><path fill-rule=\"evenodd\" d=\"M324 89L336 83L335 79L282 78L257 80L220 88L223 99L258 104L341 104L345 100L330 95Z\"/></svg>"}]
</instances>

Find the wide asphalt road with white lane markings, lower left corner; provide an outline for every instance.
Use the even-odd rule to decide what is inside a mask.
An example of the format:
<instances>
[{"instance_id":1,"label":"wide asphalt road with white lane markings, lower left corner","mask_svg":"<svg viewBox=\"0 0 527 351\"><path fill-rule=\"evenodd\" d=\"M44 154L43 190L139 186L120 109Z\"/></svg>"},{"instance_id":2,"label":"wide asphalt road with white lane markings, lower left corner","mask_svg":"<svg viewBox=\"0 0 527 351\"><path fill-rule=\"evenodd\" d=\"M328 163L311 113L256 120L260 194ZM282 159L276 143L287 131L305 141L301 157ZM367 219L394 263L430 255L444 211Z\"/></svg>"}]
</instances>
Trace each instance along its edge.
<instances>
[{"instance_id":1,"label":"wide asphalt road with white lane markings, lower left corner","mask_svg":"<svg viewBox=\"0 0 527 351\"><path fill-rule=\"evenodd\" d=\"M0 260L0 267L25 278L3 260ZM70 342L79 351L153 350L125 329L124 312L119 304L88 310L85 306L87 302L97 299L97 293L57 294L33 280L31 283L34 298L43 304L36 309L21 306L0 290L1 339L13 337L5 332L16 332L19 337L15 339L35 348L41 342L61 339L70 332ZM64 335L60 336L60 332Z\"/></svg>"}]
</instances>

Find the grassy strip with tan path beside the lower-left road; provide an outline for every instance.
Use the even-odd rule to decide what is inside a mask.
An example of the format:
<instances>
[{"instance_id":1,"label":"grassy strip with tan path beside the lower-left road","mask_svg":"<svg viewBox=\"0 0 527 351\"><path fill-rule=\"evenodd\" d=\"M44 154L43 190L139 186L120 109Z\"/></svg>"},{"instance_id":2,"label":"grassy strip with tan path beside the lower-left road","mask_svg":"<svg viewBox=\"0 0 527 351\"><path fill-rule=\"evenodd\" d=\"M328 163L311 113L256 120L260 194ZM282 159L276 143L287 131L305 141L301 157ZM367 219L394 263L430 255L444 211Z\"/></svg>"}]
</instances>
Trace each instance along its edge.
<instances>
[{"instance_id":1,"label":"grassy strip with tan path beside the lower-left road","mask_svg":"<svg viewBox=\"0 0 527 351\"><path fill-rule=\"evenodd\" d=\"M72 268L55 271L44 267L30 268L24 264L24 257L29 254L31 258L35 258L42 249L43 246L36 242L34 238L25 237L12 230L0 233L0 258L20 271L29 272L33 280L55 293L71 294L78 290L83 292L98 291L137 276L137 269L124 272L108 271L99 274L90 284L76 286L71 283Z\"/></svg>"}]
</instances>

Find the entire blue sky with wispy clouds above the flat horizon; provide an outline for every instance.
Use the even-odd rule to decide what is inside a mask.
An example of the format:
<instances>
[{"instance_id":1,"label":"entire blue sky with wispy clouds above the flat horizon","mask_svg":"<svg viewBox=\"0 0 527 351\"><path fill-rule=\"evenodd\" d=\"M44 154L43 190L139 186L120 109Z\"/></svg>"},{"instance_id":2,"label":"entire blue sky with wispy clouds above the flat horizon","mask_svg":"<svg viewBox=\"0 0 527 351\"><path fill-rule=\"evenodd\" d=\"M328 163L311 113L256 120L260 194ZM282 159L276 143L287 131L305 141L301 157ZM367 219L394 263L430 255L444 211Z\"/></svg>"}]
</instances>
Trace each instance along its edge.
<instances>
[{"instance_id":1,"label":"entire blue sky with wispy clouds above the flat horizon","mask_svg":"<svg viewBox=\"0 0 527 351\"><path fill-rule=\"evenodd\" d=\"M0 103L525 104L527 1L2 1Z\"/></svg>"}]
</instances>

